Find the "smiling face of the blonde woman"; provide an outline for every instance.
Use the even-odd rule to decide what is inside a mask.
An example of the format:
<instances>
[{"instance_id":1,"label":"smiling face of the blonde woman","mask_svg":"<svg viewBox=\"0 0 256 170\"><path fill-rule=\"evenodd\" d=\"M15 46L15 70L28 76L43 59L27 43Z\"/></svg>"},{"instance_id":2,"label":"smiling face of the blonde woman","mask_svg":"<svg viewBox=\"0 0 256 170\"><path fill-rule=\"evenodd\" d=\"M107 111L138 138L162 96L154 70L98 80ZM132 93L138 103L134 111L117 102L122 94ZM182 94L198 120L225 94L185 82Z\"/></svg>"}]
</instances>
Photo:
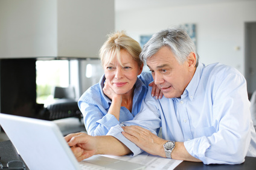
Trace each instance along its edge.
<instances>
[{"instance_id":1,"label":"smiling face of the blonde woman","mask_svg":"<svg viewBox=\"0 0 256 170\"><path fill-rule=\"evenodd\" d=\"M104 73L107 82L116 94L129 93L135 82L137 76L141 74L143 64L139 67L138 63L133 60L132 55L126 50L120 51L120 62L117 57L108 63L103 64Z\"/></svg>"}]
</instances>

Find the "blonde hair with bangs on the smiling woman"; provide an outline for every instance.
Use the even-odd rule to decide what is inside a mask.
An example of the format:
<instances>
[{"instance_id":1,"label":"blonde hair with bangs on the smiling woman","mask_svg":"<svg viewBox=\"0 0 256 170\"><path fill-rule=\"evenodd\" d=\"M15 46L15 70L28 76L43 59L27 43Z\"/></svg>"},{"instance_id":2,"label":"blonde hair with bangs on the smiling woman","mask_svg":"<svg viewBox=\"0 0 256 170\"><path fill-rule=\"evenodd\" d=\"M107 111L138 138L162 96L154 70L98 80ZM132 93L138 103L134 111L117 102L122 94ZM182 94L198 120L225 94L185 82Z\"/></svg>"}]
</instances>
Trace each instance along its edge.
<instances>
[{"instance_id":1,"label":"blonde hair with bangs on the smiling woman","mask_svg":"<svg viewBox=\"0 0 256 170\"><path fill-rule=\"evenodd\" d=\"M120 50L122 49L129 52L134 61L138 62L138 65L141 66L143 63L139 58L141 46L133 38L126 35L124 31L117 31L108 35L107 41L103 44L99 52L102 65L106 61L111 62L115 56L117 56L117 60L121 64Z\"/></svg>"}]
</instances>

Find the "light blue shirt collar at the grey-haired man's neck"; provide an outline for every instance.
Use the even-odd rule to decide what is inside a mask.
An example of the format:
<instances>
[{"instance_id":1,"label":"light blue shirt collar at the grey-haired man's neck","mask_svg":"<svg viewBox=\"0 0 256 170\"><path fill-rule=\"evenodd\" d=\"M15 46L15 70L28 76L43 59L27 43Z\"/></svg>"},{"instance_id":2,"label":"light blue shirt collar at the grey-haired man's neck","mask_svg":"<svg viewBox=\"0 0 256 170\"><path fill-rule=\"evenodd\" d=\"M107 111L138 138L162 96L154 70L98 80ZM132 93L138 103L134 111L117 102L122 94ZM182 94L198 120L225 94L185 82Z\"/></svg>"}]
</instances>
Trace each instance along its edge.
<instances>
[{"instance_id":1,"label":"light blue shirt collar at the grey-haired man's neck","mask_svg":"<svg viewBox=\"0 0 256 170\"><path fill-rule=\"evenodd\" d=\"M184 93L182 94L182 96L184 94L187 94L188 97L190 98L190 100L194 99L194 95L196 93L197 87L199 85L200 82L200 78L201 78L201 74L203 71L203 67L205 67L205 65L202 64L202 62L199 62L196 71L194 73L194 76L192 77L190 83L188 83L187 88L185 89Z\"/></svg>"}]
</instances>

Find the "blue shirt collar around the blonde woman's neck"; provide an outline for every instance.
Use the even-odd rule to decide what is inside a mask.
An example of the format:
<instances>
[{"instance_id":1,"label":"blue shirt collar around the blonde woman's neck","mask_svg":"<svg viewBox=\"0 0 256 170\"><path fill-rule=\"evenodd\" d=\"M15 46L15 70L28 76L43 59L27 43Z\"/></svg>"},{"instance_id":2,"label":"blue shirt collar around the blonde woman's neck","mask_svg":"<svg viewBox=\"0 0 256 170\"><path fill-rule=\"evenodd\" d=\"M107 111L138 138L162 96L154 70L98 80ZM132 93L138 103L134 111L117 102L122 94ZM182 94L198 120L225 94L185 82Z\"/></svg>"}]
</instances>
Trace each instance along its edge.
<instances>
[{"instance_id":1,"label":"blue shirt collar around the blonde woman's neck","mask_svg":"<svg viewBox=\"0 0 256 170\"><path fill-rule=\"evenodd\" d=\"M109 108L110 106L110 103L112 103L112 101L109 99L109 97L107 97L104 93L103 93L103 87L104 87L104 82L106 80L106 77L105 77L105 74L103 74L103 76L101 77L100 81L98 82L98 85L100 86L100 93L101 93L101 96L103 96L103 99L102 99L102 103L103 103L103 107L105 109ZM146 85L142 82L141 79L139 79L137 77L137 80L135 82L135 91L141 91L142 88L147 88ZM135 93L134 93L135 94ZM133 95L134 95L133 94Z\"/></svg>"}]
</instances>

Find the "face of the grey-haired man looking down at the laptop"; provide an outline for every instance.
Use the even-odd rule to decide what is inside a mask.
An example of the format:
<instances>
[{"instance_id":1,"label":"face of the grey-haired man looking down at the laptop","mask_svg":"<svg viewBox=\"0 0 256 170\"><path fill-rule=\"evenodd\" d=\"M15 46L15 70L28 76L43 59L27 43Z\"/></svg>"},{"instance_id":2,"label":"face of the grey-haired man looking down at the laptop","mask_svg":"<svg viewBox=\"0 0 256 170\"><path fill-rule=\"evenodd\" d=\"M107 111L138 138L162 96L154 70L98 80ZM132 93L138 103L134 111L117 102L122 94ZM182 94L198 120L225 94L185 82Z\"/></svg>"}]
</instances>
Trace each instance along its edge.
<instances>
[{"instance_id":1,"label":"face of the grey-haired man looking down at the laptop","mask_svg":"<svg viewBox=\"0 0 256 170\"><path fill-rule=\"evenodd\" d=\"M187 59L184 64L179 65L173 52L166 46L147 59L147 65L152 71L153 79L164 93L164 97L181 97L196 70L191 62L193 61Z\"/></svg>"}]
</instances>

